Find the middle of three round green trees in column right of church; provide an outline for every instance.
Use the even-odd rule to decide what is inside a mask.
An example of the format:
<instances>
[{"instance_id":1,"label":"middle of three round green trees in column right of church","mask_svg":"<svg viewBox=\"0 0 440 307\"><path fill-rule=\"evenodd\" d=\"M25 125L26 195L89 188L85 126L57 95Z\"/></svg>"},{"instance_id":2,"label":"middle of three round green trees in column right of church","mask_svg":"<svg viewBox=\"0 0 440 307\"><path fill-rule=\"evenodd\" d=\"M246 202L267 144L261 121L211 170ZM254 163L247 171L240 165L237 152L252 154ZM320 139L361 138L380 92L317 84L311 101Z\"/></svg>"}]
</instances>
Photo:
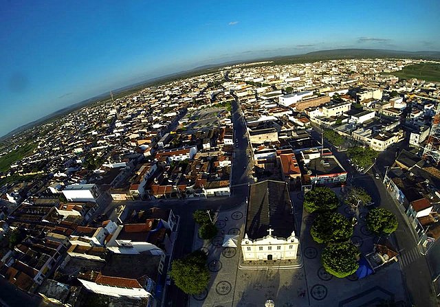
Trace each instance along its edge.
<instances>
[{"instance_id":1,"label":"middle of three round green trees in column right of church","mask_svg":"<svg viewBox=\"0 0 440 307\"><path fill-rule=\"evenodd\" d=\"M344 242L353 235L353 226L342 214L325 212L316 216L310 234L318 243Z\"/></svg>"}]
</instances>

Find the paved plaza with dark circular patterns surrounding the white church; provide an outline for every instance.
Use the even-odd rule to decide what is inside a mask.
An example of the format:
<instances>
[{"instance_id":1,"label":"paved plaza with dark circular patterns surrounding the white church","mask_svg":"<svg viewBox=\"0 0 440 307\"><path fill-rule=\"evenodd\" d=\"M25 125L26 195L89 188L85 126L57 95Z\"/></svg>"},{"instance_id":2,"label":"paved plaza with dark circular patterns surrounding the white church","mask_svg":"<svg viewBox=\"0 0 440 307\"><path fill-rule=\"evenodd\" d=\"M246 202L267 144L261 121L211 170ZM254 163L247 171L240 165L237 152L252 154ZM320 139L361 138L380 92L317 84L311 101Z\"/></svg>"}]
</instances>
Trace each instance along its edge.
<instances>
[{"instance_id":1,"label":"paved plaza with dark circular patterns surrounding the white church","mask_svg":"<svg viewBox=\"0 0 440 307\"><path fill-rule=\"evenodd\" d=\"M362 280L355 275L340 279L327 273L320 264L323 246L309 235L313 216L307 213L303 216L303 194L296 192L291 197L296 206L296 227L300 227L300 262L267 261L255 267L243 266L240 247L221 245L225 234L243 236L245 203L231 211L219 212L215 216L219 234L214 239L201 240L196 234L193 248L208 253L211 281L206 291L190 297L189 306L264 306L267 299L283 307L375 306L381 300L404 301L404 285L397 262ZM377 238L366 229L366 212L362 210L354 212L341 206L338 211L347 217L358 216L352 240L362 253L367 253ZM288 265L291 268L287 268Z\"/></svg>"}]
</instances>

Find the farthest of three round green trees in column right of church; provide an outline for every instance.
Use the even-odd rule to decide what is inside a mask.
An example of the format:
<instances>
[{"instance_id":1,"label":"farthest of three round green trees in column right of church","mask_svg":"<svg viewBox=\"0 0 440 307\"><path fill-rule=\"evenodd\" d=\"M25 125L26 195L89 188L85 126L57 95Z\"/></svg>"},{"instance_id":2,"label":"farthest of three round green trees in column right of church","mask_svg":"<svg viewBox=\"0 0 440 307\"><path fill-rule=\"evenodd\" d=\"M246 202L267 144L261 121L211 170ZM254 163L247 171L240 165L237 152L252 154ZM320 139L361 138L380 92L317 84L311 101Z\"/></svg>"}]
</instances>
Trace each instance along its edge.
<instances>
[{"instance_id":1,"label":"farthest of three round green trees in column right of church","mask_svg":"<svg viewBox=\"0 0 440 307\"><path fill-rule=\"evenodd\" d=\"M338 205L338 196L329 187L315 187L304 195L304 208L309 213L332 211Z\"/></svg>"}]
</instances>

